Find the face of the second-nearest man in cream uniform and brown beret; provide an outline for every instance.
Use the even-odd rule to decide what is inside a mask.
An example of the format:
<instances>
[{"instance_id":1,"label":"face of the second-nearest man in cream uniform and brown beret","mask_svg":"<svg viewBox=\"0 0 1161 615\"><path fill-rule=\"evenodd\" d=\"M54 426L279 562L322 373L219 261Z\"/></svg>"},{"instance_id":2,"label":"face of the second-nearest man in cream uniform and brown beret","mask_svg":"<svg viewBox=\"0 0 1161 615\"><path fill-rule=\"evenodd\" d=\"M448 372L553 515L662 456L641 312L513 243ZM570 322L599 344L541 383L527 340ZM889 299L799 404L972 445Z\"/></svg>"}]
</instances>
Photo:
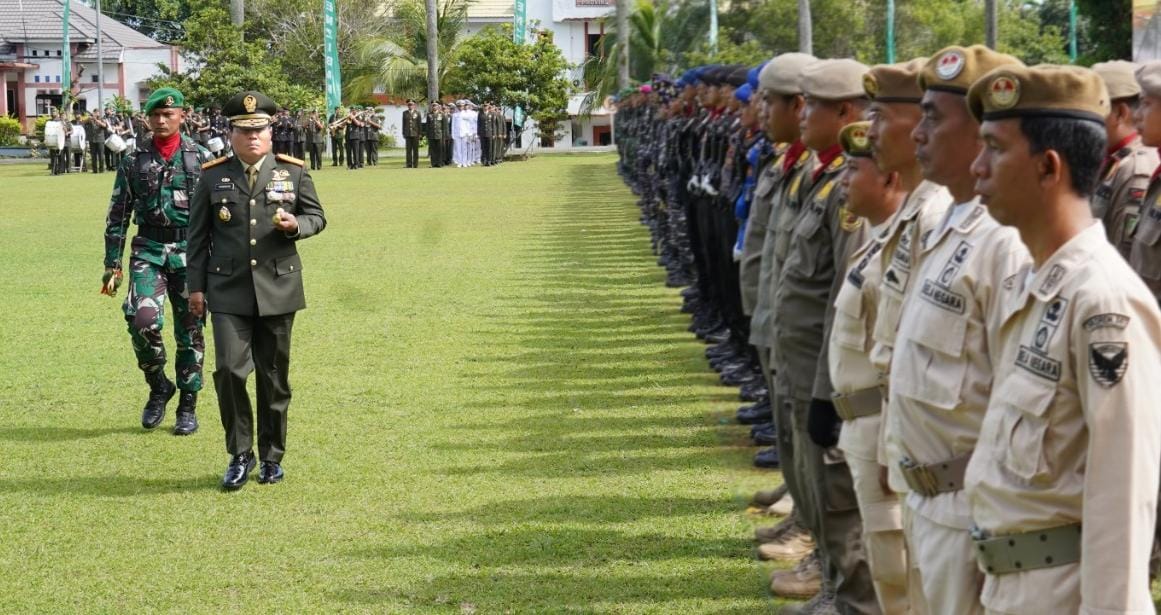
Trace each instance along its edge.
<instances>
[{"instance_id":1,"label":"face of the second-nearest man in cream uniform and brown beret","mask_svg":"<svg viewBox=\"0 0 1161 615\"><path fill-rule=\"evenodd\" d=\"M980 152L979 125L958 94L929 89L921 108L911 138L923 176L940 186L957 183Z\"/></svg>"}]
</instances>

